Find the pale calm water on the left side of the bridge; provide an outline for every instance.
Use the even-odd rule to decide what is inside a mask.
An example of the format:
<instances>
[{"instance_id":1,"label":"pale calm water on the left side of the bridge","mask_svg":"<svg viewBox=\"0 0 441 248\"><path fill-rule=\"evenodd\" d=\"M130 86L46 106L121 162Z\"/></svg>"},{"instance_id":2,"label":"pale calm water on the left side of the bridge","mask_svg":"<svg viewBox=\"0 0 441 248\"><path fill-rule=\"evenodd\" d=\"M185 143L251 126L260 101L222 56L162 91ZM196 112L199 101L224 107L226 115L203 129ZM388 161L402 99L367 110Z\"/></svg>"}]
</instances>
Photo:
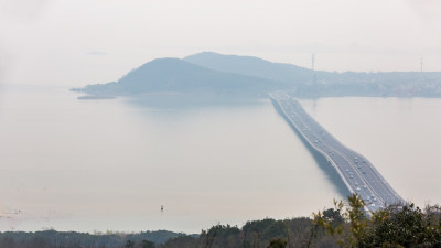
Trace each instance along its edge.
<instances>
[{"instance_id":1,"label":"pale calm water on the left side of the bridge","mask_svg":"<svg viewBox=\"0 0 441 248\"><path fill-rule=\"evenodd\" d=\"M11 218L0 230L200 233L310 216L340 197L269 100L176 108L1 90L0 211Z\"/></svg>"}]
</instances>

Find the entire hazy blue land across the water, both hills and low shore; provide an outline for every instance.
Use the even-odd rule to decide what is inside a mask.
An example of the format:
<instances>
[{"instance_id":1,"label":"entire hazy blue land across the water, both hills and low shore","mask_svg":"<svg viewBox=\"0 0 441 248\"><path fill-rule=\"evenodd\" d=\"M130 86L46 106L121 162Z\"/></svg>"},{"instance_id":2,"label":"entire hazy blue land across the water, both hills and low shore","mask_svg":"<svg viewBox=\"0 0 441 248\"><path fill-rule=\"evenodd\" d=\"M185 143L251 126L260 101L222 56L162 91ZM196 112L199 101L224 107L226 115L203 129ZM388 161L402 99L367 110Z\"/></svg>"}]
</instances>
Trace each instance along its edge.
<instances>
[{"instance_id":1,"label":"entire hazy blue land across the water, both hills and low shore","mask_svg":"<svg viewBox=\"0 0 441 248\"><path fill-rule=\"evenodd\" d=\"M158 58L116 82L74 88L92 98L149 94L266 97L284 89L295 97L441 97L441 72L325 72L258 57L212 52Z\"/></svg>"}]
</instances>

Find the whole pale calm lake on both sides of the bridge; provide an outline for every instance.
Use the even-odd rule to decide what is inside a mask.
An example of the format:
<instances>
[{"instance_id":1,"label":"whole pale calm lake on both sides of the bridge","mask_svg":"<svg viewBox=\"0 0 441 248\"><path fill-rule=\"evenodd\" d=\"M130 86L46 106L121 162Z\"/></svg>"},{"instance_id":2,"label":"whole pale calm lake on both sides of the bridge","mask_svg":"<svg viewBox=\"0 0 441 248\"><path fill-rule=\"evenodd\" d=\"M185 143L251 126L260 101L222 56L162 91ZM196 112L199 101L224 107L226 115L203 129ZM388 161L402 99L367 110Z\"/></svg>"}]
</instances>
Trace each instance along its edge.
<instances>
[{"instance_id":1,"label":"whole pale calm lake on both sides of the bridge","mask_svg":"<svg viewBox=\"0 0 441 248\"><path fill-rule=\"evenodd\" d=\"M0 230L200 233L311 216L342 197L269 100L78 96L1 88ZM441 99L301 104L405 200L441 203Z\"/></svg>"}]
</instances>

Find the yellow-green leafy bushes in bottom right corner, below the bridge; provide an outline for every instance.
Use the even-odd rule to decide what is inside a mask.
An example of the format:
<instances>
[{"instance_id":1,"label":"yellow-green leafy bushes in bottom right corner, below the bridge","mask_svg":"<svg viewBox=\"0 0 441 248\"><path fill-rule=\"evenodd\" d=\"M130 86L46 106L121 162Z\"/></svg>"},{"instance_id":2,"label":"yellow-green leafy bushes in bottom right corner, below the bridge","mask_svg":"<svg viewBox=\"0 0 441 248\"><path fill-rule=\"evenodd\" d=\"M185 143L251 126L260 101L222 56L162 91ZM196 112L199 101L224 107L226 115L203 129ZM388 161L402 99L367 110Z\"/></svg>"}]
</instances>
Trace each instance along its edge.
<instances>
[{"instance_id":1,"label":"yellow-green leafy bushes in bottom right corner, below the bridge","mask_svg":"<svg viewBox=\"0 0 441 248\"><path fill-rule=\"evenodd\" d=\"M366 214L357 195L347 203L335 202L344 222L325 212L313 214L314 225L323 228L341 247L441 247L441 207L428 205L422 211L413 204L391 205Z\"/></svg>"}]
</instances>

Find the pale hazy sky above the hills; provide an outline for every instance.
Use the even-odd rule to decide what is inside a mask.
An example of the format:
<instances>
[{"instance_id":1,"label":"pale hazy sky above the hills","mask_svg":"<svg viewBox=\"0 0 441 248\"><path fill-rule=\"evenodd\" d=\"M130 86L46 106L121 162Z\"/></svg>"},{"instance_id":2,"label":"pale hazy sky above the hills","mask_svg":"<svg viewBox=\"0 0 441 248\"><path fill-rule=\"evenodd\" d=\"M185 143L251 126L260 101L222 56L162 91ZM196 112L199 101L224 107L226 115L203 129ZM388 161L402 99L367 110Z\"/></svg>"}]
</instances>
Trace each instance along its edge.
<instances>
[{"instance_id":1,"label":"pale hazy sky above the hills","mask_svg":"<svg viewBox=\"0 0 441 248\"><path fill-rule=\"evenodd\" d=\"M441 71L439 0L0 0L0 83L83 86L203 51Z\"/></svg>"}]
</instances>

